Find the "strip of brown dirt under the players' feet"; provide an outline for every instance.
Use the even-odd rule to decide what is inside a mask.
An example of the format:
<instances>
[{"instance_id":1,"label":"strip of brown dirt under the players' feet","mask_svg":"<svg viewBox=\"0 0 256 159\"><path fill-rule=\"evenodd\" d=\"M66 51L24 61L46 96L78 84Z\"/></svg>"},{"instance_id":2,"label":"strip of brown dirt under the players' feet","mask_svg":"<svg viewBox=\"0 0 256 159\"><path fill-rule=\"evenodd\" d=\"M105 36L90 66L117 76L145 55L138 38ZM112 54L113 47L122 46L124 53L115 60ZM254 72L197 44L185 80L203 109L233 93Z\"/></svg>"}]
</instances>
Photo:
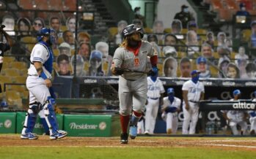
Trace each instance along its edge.
<instances>
[{"instance_id":1,"label":"strip of brown dirt under the players' feet","mask_svg":"<svg viewBox=\"0 0 256 159\"><path fill-rule=\"evenodd\" d=\"M193 138L193 137L142 137L120 144L118 137L66 137L50 140L40 136L37 140L20 139L19 136L0 136L0 147L209 147L225 150L256 150L256 138Z\"/></svg>"}]
</instances>

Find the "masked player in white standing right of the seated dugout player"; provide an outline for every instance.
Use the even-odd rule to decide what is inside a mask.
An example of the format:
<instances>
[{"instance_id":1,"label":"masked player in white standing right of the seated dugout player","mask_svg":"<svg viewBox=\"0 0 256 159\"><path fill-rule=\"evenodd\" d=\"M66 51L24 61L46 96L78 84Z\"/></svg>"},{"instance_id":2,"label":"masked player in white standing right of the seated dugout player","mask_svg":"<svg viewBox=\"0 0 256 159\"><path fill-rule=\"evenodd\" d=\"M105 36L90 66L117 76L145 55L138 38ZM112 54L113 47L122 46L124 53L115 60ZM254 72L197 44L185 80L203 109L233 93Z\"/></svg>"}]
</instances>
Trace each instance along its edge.
<instances>
[{"instance_id":1,"label":"masked player in white standing right of the seated dugout player","mask_svg":"<svg viewBox=\"0 0 256 159\"><path fill-rule=\"evenodd\" d=\"M191 71L191 80L183 84L183 134L194 134L198 120L198 102L204 98L205 87L199 81L200 71ZM189 131L188 131L189 128Z\"/></svg>"}]
</instances>

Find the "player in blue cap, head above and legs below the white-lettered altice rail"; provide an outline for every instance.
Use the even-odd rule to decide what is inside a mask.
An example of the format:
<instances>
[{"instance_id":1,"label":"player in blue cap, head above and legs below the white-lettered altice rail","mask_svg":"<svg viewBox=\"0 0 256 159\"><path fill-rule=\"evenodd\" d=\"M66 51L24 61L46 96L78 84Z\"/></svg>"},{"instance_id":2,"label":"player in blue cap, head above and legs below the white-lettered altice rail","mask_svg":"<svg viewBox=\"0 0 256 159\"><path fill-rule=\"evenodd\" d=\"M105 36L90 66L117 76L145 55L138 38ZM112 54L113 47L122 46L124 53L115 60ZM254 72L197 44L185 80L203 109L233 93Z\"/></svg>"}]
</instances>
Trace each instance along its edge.
<instances>
[{"instance_id":1,"label":"player in blue cap, head above and legs below the white-lettered altice rail","mask_svg":"<svg viewBox=\"0 0 256 159\"><path fill-rule=\"evenodd\" d=\"M234 98L230 99L230 101L238 101L241 97L240 90L233 91ZM246 134L247 123L246 123L246 111L241 110L222 110L223 117L227 120L227 125L230 125L231 131L233 135L239 135L237 125L241 126L241 134Z\"/></svg>"}]
</instances>

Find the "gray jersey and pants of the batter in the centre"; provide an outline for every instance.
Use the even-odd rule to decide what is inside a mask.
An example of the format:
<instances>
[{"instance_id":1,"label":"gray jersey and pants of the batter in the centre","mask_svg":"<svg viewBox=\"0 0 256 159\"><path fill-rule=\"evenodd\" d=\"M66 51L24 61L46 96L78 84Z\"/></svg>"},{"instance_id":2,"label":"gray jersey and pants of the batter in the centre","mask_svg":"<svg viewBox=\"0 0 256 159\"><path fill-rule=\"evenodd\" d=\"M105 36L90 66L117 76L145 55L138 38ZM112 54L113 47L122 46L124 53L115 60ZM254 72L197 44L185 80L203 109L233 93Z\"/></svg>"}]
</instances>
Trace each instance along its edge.
<instances>
[{"instance_id":1,"label":"gray jersey and pants of the batter in the centre","mask_svg":"<svg viewBox=\"0 0 256 159\"><path fill-rule=\"evenodd\" d=\"M118 47L114 52L112 66L136 71L146 71L147 56L157 55L149 42L142 41L138 55ZM136 112L144 112L147 100L147 74L125 72L119 78L118 88L120 100L120 115L131 114L133 109Z\"/></svg>"}]
</instances>

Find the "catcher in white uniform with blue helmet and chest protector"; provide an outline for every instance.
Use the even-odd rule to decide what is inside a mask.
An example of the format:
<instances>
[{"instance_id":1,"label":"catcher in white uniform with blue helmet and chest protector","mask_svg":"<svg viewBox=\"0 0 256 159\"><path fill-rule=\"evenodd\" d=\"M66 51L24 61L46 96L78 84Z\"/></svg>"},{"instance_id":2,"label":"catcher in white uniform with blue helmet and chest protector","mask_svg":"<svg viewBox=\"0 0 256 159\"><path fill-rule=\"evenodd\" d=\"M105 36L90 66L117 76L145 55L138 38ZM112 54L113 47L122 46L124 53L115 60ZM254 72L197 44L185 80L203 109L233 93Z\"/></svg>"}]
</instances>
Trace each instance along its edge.
<instances>
[{"instance_id":1,"label":"catcher in white uniform with blue helmet and chest protector","mask_svg":"<svg viewBox=\"0 0 256 159\"><path fill-rule=\"evenodd\" d=\"M37 34L38 43L34 45L30 55L29 76L26 88L29 90L29 109L26 113L21 139L37 139L33 132L37 114L43 109L45 120L50 128L50 139L60 139L67 136L67 132L59 132L54 113L54 98L51 98L51 71L53 69L53 52L51 44L55 40L55 32L49 28L42 28Z\"/></svg>"}]
</instances>

